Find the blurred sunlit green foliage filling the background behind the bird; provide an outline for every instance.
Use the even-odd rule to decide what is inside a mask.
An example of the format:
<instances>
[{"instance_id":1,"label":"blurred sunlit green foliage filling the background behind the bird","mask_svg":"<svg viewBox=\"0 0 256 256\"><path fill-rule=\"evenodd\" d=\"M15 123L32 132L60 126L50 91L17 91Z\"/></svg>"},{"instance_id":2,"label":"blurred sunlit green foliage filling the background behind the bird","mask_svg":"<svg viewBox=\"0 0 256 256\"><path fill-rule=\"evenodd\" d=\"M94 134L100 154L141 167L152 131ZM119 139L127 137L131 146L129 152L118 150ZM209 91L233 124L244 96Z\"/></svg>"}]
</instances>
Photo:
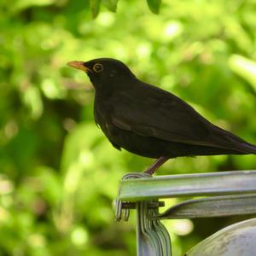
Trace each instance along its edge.
<instances>
[{"instance_id":1,"label":"blurred sunlit green foliage filling the background behind the bird","mask_svg":"<svg viewBox=\"0 0 256 256\"><path fill-rule=\"evenodd\" d=\"M0 255L136 253L135 217L115 223L111 204L119 179L152 160L112 148L67 61L125 61L256 143L255 16L254 0L1 1ZM253 155L180 158L158 175L255 168ZM180 255L237 220L165 224Z\"/></svg>"}]
</instances>

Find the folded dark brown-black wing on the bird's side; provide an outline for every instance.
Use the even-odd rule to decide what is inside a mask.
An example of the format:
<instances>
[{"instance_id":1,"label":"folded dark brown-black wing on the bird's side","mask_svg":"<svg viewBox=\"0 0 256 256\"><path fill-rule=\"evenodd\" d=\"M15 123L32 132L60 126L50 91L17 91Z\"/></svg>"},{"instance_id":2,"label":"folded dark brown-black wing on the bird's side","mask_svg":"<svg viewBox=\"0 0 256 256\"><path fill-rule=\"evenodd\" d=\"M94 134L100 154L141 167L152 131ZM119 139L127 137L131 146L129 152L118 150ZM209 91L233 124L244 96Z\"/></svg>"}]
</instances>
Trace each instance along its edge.
<instances>
[{"instance_id":1,"label":"folded dark brown-black wing on the bird's side","mask_svg":"<svg viewBox=\"0 0 256 256\"><path fill-rule=\"evenodd\" d=\"M113 106L113 125L126 131L133 131L144 137L157 137L170 142L205 146L214 145L211 139L212 125L194 108L177 96L147 85L143 97L126 93L119 96ZM133 98L131 98L133 95ZM224 148L226 148L224 146Z\"/></svg>"}]
</instances>

